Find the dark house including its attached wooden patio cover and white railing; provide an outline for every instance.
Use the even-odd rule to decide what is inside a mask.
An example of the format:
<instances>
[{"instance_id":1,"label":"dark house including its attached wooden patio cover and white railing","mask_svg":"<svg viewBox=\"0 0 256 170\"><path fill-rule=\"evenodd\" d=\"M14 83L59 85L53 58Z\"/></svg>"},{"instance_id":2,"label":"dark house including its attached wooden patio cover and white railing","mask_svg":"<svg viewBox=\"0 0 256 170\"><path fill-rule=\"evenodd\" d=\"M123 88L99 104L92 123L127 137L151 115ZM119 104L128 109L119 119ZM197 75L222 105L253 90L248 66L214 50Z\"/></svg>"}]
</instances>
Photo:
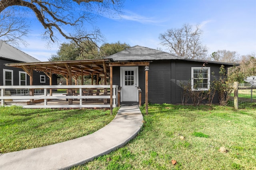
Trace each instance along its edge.
<instances>
[{"instance_id":1,"label":"dark house including its attached wooden patio cover and white railing","mask_svg":"<svg viewBox=\"0 0 256 170\"><path fill-rule=\"evenodd\" d=\"M14 69L13 67L24 69L27 74L30 74L32 70L33 72L45 72L50 79L50 75L52 74L62 74L67 80L67 86L41 86L40 88L69 88L74 91L79 91L79 94L77 92L74 93L75 96L71 93L71 90L70 92L67 92L68 96L58 96L58 99L68 100L68 103L62 106L58 104L55 106L47 106L46 100L56 97L51 95L41 96L40 99L44 99L45 101L44 106L33 106L33 108L112 108L112 106L118 106L119 101L141 102L142 104L181 104L182 93L184 92L182 88L183 84L190 83L189 88L192 88L194 91L208 90L210 88L210 81L218 80L220 76L220 67L222 65L227 72L228 67L236 66L238 64L186 59L171 53L136 45L104 59L48 62L36 61L30 63L9 63L5 65L10 66L12 69ZM104 86L84 86L84 75L90 75L92 78L94 75L97 75L97 79L98 77L104 78ZM76 80L79 77L82 79L82 84L71 86L72 78ZM110 85L107 85L107 78L110 80ZM5 81L8 80L5 79ZM30 85L33 85L33 83ZM35 82L34 85L36 85ZM195 87L195 85L197 87ZM35 86L30 86L30 89L33 88L36 89ZM99 95L101 88L104 89L104 93L103 91L101 92L104 96ZM99 92L98 94L96 93L95 95L92 94L92 96L90 96L87 95L86 92L84 93L86 89L97 89L97 92L98 90ZM30 96L32 95L33 94ZM1 98L8 99L4 96L1 96ZM79 105L73 105L75 103L73 103L72 99L79 100ZM87 103L84 102L92 99L96 99L97 102L94 100L90 105L87 105ZM98 105L98 101L100 100L102 100L103 103ZM191 103L192 101L189 102ZM212 103L219 103L218 94L215 94ZM3 104L4 103L2 103L2 105Z\"/></svg>"}]
</instances>

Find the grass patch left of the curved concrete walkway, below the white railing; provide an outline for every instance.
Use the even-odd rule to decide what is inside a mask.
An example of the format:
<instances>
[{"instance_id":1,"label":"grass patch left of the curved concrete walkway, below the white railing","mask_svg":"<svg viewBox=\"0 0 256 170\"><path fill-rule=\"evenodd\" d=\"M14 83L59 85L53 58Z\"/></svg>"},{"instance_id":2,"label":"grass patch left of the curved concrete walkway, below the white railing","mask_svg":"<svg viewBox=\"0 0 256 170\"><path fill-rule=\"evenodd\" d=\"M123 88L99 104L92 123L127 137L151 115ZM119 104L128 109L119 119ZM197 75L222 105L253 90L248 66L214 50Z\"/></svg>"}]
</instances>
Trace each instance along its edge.
<instances>
[{"instance_id":1,"label":"grass patch left of the curved concrete walkway, below the white railing","mask_svg":"<svg viewBox=\"0 0 256 170\"><path fill-rule=\"evenodd\" d=\"M0 107L0 153L42 147L88 135L116 115L104 109Z\"/></svg>"}]
</instances>

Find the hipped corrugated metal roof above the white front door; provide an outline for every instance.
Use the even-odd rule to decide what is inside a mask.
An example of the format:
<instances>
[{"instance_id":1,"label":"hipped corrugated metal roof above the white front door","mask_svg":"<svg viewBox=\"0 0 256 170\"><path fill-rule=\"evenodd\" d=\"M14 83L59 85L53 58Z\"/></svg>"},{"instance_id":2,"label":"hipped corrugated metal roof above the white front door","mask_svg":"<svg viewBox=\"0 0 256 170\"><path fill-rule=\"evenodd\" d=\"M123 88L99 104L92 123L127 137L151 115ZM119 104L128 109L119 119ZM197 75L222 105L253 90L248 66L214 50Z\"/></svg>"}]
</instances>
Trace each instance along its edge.
<instances>
[{"instance_id":1,"label":"hipped corrugated metal roof above the white front door","mask_svg":"<svg viewBox=\"0 0 256 170\"><path fill-rule=\"evenodd\" d=\"M152 61L172 59L183 60L184 57L136 45L114 55L110 55L106 57L106 59L112 59L113 61Z\"/></svg>"}]
</instances>

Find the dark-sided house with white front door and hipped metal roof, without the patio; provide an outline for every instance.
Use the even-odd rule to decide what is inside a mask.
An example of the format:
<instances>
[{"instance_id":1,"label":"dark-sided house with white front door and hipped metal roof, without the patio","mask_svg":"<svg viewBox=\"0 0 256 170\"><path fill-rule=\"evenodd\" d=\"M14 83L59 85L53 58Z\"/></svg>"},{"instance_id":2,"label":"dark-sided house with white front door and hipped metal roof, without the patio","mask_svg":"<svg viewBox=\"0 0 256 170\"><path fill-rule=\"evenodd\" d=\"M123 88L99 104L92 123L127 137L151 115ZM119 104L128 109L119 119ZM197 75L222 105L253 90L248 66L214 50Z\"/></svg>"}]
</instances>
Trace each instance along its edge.
<instances>
[{"instance_id":1,"label":"dark-sided house with white front door and hipped metal roof, without the patio","mask_svg":"<svg viewBox=\"0 0 256 170\"><path fill-rule=\"evenodd\" d=\"M225 66L226 72L228 67L234 66L233 63L185 59L138 45L106 57L106 59L112 60L113 84L122 87L121 102L138 102L138 86L142 90L142 103L145 102L145 70L144 66L138 63L143 65L143 62L149 62L148 102L154 104L181 104L182 83L191 82L192 90L208 90L210 80L219 78L221 65ZM118 64L115 66L113 63ZM199 74L202 78L198 76ZM200 79L203 79L202 84L199 88L193 89L194 81ZM218 102L216 95L213 103Z\"/></svg>"}]
</instances>

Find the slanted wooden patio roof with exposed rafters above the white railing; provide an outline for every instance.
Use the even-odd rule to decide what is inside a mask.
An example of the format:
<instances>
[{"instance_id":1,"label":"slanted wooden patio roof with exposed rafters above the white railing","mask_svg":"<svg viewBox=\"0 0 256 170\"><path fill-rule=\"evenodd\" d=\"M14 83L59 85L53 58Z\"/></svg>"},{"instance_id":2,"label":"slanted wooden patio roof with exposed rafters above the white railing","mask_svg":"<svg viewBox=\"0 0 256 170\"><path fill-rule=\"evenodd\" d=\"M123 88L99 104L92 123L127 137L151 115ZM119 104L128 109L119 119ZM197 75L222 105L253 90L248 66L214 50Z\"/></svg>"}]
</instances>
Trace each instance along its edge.
<instances>
[{"instance_id":1,"label":"slanted wooden patio roof with exposed rafters above the white railing","mask_svg":"<svg viewBox=\"0 0 256 170\"><path fill-rule=\"evenodd\" d=\"M72 60L72 61L47 61L37 63L10 63L6 66L22 68L30 76L30 85L33 85L33 70L44 72L50 78L52 85L52 74L61 74L66 80L67 85L72 85L72 78L77 80L78 76L97 75L104 77L106 85L107 74L109 73L109 59L96 60Z\"/></svg>"}]
</instances>

